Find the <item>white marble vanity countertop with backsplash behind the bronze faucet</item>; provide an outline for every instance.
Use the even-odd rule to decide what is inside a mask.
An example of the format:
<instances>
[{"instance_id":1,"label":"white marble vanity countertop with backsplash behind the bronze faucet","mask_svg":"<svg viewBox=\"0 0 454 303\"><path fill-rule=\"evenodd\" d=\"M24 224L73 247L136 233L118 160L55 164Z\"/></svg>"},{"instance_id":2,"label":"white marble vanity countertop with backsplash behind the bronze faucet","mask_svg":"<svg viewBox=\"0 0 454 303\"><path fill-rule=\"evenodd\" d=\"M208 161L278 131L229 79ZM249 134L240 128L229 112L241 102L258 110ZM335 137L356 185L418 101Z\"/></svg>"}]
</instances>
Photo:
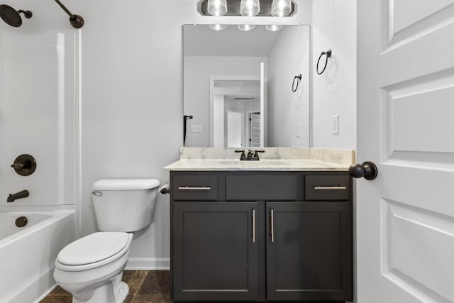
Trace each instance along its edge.
<instances>
[{"instance_id":1,"label":"white marble vanity countertop with backsplash behind the bronze faucet","mask_svg":"<svg viewBox=\"0 0 454 303\"><path fill-rule=\"evenodd\" d=\"M235 148L181 148L180 160L165 170L348 171L354 150L326 148L260 148L260 160L239 160Z\"/></svg>"}]
</instances>

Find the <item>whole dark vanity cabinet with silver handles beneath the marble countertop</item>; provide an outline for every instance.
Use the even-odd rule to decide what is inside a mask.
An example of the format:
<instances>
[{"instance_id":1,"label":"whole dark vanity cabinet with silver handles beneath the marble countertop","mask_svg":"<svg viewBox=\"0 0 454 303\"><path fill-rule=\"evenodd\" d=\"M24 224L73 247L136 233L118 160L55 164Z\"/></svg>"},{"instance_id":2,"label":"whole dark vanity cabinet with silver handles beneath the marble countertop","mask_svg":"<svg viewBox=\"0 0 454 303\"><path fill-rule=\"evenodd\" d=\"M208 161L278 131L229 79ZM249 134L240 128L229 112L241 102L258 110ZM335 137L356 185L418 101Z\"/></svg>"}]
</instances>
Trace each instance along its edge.
<instances>
[{"instance_id":1,"label":"whole dark vanity cabinet with silver handles beneath the marble countertop","mask_svg":"<svg viewBox=\"0 0 454 303\"><path fill-rule=\"evenodd\" d=\"M172 171L172 300L353 300L348 172Z\"/></svg>"}]
</instances>

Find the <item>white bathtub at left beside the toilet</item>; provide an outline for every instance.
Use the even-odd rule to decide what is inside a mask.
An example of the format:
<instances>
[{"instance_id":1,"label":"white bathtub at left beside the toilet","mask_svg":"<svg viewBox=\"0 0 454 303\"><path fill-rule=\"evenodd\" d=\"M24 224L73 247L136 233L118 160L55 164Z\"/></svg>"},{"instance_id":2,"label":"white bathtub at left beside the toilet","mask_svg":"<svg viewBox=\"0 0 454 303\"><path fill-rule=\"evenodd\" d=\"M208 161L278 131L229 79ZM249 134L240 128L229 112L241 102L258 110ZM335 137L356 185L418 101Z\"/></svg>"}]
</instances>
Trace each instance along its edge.
<instances>
[{"instance_id":1,"label":"white bathtub at left beside the toilet","mask_svg":"<svg viewBox=\"0 0 454 303\"><path fill-rule=\"evenodd\" d=\"M54 285L57 253L74 241L74 210L0 209L0 302L38 302ZM28 223L16 227L18 217Z\"/></svg>"}]
</instances>

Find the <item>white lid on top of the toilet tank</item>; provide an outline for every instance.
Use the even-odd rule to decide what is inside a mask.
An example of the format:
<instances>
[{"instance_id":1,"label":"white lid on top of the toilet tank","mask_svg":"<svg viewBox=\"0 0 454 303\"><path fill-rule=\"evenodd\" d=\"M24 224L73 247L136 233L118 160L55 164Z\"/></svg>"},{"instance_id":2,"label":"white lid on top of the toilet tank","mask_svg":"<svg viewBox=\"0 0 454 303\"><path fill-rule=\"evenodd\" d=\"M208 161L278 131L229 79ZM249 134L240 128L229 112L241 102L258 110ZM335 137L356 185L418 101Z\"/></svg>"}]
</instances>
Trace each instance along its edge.
<instances>
[{"instance_id":1,"label":"white lid on top of the toilet tank","mask_svg":"<svg viewBox=\"0 0 454 303\"><path fill-rule=\"evenodd\" d=\"M137 190L159 186L157 179L101 179L93 183L93 190Z\"/></svg>"}]
</instances>

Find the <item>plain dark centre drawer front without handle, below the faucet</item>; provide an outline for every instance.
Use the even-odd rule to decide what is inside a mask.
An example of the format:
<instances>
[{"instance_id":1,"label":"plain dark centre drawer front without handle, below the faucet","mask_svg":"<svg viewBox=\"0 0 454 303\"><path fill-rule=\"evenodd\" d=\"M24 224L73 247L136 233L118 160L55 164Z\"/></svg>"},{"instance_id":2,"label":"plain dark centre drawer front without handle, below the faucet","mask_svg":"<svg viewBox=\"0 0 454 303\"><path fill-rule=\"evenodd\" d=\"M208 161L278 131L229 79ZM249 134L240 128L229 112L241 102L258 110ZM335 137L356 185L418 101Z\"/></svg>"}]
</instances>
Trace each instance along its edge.
<instances>
[{"instance_id":1,"label":"plain dark centre drawer front without handle, below the faucet","mask_svg":"<svg viewBox=\"0 0 454 303\"><path fill-rule=\"evenodd\" d=\"M294 175L226 176L226 200L294 200Z\"/></svg>"}]
</instances>

